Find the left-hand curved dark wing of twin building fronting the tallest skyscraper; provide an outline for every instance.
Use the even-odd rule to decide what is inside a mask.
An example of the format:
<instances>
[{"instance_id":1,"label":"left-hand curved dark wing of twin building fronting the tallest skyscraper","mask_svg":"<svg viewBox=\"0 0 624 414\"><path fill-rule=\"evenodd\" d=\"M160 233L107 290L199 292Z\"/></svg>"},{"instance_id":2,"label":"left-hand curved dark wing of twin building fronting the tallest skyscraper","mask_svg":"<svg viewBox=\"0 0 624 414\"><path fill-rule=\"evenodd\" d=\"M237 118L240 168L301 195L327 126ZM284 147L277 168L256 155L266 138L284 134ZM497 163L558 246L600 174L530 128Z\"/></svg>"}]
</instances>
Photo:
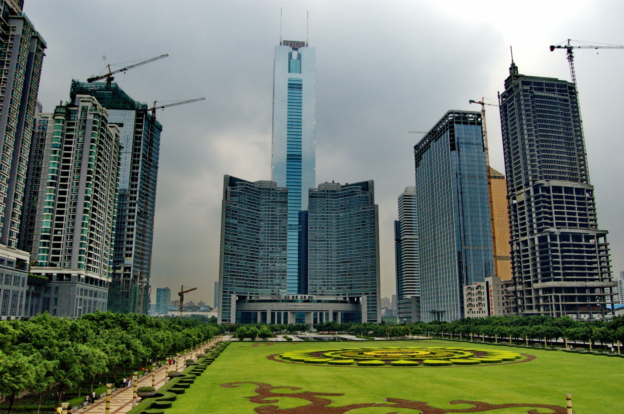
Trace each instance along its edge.
<instances>
[{"instance_id":1,"label":"left-hand curved dark wing of twin building fronting the tallest skyscraper","mask_svg":"<svg viewBox=\"0 0 624 414\"><path fill-rule=\"evenodd\" d=\"M219 323L236 322L236 296L286 294L287 228L288 188L224 177Z\"/></svg>"}]
</instances>

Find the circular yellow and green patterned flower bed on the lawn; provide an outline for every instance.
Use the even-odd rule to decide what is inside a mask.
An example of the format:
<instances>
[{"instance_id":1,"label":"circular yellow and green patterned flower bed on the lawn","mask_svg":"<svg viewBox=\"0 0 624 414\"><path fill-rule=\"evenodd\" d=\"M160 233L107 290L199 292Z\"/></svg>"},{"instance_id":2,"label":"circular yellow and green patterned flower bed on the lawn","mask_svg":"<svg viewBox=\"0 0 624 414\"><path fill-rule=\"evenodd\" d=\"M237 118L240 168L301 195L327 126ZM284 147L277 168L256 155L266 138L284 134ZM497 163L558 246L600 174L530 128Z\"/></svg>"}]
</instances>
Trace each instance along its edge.
<instances>
[{"instance_id":1,"label":"circular yellow and green patterned flower bed on the lawn","mask_svg":"<svg viewBox=\"0 0 624 414\"><path fill-rule=\"evenodd\" d=\"M522 362L522 354L508 350L444 347L366 347L306 349L271 355L283 362L361 367L445 367L482 363ZM276 358L275 358L276 357ZM528 360L528 359L527 359Z\"/></svg>"}]
</instances>

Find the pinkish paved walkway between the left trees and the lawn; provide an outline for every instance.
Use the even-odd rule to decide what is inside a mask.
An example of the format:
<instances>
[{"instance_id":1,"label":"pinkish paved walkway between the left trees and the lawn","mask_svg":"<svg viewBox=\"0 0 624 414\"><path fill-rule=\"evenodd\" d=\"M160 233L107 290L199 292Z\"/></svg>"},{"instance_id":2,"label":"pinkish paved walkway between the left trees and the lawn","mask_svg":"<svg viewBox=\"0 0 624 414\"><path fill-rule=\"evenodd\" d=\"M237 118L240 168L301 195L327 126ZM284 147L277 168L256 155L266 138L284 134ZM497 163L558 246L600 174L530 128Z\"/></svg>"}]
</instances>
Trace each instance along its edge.
<instances>
[{"instance_id":1,"label":"pinkish paved walkway between the left trees and the lawn","mask_svg":"<svg viewBox=\"0 0 624 414\"><path fill-rule=\"evenodd\" d=\"M225 340L225 339L224 339ZM186 368L186 365L183 362L190 358L192 355L191 352L182 355L182 357L178 358L178 371L182 371ZM175 365L169 365L169 370L175 370ZM156 370L156 380L154 387L158 389L162 387L165 382L167 382L167 378L165 378L165 365ZM137 380L137 388L139 387L151 387L152 386L152 373L148 372L143 377ZM140 398L137 397L137 404L140 402ZM104 414L106 410L106 397L100 398L99 400L95 400L95 403L87 405L87 407L80 408L80 410L76 410L75 413L80 414ZM114 393L110 395L110 414L125 414L132 410L132 387L128 388L119 388Z\"/></svg>"}]
</instances>

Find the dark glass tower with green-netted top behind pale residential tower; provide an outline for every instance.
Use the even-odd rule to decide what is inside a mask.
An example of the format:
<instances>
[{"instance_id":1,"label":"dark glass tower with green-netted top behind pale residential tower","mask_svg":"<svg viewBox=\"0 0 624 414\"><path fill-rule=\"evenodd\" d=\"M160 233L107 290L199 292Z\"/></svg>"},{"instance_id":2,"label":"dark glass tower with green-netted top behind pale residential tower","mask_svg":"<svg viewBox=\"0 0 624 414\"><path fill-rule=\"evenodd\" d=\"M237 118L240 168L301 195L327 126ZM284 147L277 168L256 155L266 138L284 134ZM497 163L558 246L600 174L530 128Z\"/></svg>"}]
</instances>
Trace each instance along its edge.
<instances>
[{"instance_id":1,"label":"dark glass tower with green-netted top behind pale residential tower","mask_svg":"<svg viewBox=\"0 0 624 414\"><path fill-rule=\"evenodd\" d=\"M114 82L72 81L71 99L91 95L119 127L122 152L108 309L149 313L158 151L162 125Z\"/></svg>"}]
</instances>

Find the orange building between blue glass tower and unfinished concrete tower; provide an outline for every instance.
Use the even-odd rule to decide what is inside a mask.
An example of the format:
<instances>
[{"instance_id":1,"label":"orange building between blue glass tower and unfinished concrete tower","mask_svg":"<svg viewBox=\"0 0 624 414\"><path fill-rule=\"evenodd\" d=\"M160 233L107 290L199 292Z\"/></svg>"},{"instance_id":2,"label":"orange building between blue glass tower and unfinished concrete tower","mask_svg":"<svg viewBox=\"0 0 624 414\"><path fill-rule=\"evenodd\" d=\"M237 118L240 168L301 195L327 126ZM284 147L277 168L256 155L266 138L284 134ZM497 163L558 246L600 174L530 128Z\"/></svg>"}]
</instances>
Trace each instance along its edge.
<instances>
[{"instance_id":1,"label":"orange building between blue glass tower and unfinished concrete tower","mask_svg":"<svg viewBox=\"0 0 624 414\"><path fill-rule=\"evenodd\" d=\"M511 233L509 231L509 213L507 212L507 180L499 171L490 167L488 174L492 183L492 221L494 221L494 257L497 275L502 281L512 279L511 271Z\"/></svg>"}]
</instances>

